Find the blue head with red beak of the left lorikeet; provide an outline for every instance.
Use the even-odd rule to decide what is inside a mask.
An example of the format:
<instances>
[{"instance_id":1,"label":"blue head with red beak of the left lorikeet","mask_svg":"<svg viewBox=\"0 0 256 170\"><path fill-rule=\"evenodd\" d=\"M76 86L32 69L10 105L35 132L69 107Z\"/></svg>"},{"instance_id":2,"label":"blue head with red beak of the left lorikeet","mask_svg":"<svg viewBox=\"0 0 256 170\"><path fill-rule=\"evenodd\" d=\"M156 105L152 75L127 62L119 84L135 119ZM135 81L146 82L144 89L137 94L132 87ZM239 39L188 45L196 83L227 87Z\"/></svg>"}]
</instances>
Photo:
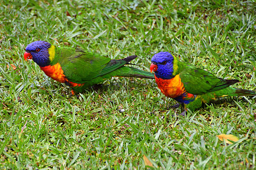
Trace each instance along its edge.
<instances>
[{"instance_id":1,"label":"blue head with red beak of the left lorikeet","mask_svg":"<svg viewBox=\"0 0 256 170\"><path fill-rule=\"evenodd\" d=\"M51 62L49 56L49 49L52 45L46 41L35 41L31 42L26 47L26 52L24 53L24 59L33 59L40 67L48 66Z\"/></svg>"}]
</instances>

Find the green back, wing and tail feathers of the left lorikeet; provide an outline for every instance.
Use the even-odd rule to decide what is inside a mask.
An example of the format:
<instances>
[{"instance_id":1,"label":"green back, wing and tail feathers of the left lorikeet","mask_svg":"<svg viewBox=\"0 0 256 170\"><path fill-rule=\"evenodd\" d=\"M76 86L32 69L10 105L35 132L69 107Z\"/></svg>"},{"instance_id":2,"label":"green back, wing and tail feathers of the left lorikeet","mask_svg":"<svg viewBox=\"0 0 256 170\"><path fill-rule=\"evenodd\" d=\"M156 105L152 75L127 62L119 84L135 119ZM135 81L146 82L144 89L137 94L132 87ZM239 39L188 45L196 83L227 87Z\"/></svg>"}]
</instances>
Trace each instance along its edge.
<instances>
[{"instance_id":1,"label":"green back, wing and tail feathers of the left lorikeet","mask_svg":"<svg viewBox=\"0 0 256 170\"><path fill-rule=\"evenodd\" d=\"M73 83L79 84L96 84L101 82L102 79L110 78L111 76L137 75L135 77L154 79L154 74L123 66L136 57L110 59L79 48L55 47L55 57L52 59L51 65L59 62L66 78ZM102 78L98 78L99 76Z\"/></svg>"}]
</instances>

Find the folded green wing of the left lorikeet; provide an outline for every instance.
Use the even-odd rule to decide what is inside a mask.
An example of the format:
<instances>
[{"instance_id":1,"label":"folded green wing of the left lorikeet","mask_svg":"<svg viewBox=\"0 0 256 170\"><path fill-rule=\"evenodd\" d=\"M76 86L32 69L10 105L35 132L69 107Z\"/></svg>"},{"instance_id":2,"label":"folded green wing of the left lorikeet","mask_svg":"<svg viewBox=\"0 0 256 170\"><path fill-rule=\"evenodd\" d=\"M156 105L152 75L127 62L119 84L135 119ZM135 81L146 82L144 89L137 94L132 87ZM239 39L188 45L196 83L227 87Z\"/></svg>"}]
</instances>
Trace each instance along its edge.
<instances>
[{"instance_id":1,"label":"folded green wing of the left lorikeet","mask_svg":"<svg viewBox=\"0 0 256 170\"><path fill-rule=\"evenodd\" d=\"M97 76L108 74L126 63L121 59L112 63L108 57L79 48L59 48L58 54L64 75L74 83L84 83Z\"/></svg>"}]
</instances>

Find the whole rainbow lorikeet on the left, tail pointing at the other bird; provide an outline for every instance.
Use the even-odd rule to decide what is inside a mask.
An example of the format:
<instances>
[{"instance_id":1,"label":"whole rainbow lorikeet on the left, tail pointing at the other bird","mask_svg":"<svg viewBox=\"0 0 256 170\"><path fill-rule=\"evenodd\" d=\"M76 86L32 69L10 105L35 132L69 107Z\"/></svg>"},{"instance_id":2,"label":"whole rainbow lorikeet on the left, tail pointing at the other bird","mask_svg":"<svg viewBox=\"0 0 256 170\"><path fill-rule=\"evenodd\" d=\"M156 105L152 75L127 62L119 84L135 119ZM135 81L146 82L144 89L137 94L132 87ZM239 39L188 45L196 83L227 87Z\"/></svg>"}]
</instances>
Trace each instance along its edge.
<instances>
[{"instance_id":1,"label":"whole rainbow lorikeet on the left, tail pointing at the other bird","mask_svg":"<svg viewBox=\"0 0 256 170\"><path fill-rule=\"evenodd\" d=\"M112 76L151 78L154 74L124 66L137 56L110 59L79 48L57 47L46 41L28 44L24 59L33 59L44 73L72 88L72 94L102 82Z\"/></svg>"}]
</instances>

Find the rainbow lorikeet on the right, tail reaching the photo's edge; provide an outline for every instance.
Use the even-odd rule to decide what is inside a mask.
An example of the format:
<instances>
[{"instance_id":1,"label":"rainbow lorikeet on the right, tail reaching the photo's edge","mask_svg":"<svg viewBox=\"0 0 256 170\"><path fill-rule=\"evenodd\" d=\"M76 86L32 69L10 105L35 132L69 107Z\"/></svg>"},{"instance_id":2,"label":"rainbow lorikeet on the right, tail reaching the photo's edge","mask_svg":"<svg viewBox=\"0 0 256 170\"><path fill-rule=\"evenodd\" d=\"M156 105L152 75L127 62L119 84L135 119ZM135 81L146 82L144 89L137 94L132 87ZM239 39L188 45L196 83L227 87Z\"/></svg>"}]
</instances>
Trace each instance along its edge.
<instances>
[{"instance_id":1,"label":"rainbow lorikeet on the right, tail reaching the photo's edge","mask_svg":"<svg viewBox=\"0 0 256 170\"><path fill-rule=\"evenodd\" d=\"M161 92L184 103L191 111L217 97L256 96L255 91L229 87L239 80L217 78L208 71L180 62L169 52L155 54L151 62L150 71L155 72L155 80Z\"/></svg>"}]
</instances>

